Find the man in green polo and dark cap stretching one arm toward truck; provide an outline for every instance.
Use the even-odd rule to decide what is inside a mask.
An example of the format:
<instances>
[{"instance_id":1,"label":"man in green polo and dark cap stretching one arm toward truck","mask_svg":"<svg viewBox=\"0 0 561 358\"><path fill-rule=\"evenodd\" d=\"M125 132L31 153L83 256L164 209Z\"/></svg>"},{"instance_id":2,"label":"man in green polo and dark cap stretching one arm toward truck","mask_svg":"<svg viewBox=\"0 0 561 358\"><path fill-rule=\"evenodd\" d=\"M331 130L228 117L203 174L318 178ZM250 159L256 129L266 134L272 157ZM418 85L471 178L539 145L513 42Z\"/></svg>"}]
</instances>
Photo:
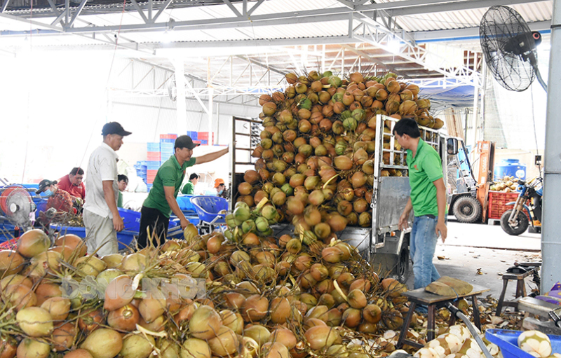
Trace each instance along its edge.
<instances>
[{"instance_id":1,"label":"man in green polo and dark cap stretching one arm toward truck","mask_svg":"<svg viewBox=\"0 0 561 358\"><path fill-rule=\"evenodd\" d=\"M187 167L203 164L218 159L228 153L229 149L222 149L215 153L208 153L197 158L192 157L193 149L198 144L193 143L191 137L182 135L175 139L175 154L165 161L158 169L154 184L150 189L148 198L144 200L140 216L140 235L138 246L147 247L148 231L151 242L158 246L165 240L168 234L170 214L177 215L180 219L181 228L186 228L189 221L185 219L180 206L177 205L177 193L185 177Z\"/></svg>"}]
</instances>

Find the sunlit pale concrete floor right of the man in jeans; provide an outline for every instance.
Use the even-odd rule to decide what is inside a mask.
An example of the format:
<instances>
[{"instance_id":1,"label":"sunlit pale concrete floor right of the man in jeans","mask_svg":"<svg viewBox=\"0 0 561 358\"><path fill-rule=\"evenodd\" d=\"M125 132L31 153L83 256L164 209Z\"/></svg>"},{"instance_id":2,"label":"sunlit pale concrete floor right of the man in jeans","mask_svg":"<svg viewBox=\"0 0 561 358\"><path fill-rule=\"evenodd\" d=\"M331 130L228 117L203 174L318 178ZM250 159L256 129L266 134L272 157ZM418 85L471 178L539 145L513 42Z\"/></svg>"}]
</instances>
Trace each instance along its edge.
<instances>
[{"instance_id":1,"label":"sunlit pale concrete floor right of the man in jeans","mask_svg":"<svg viewBox=\"0 0 561 358\"><path fill-rule=\"evenodd\" d=\"M438 256L443 256L438 259ZM433 262L440 275L451 276L471 284L487 287L494 298L499 298L503 280L499 273L513 266L515 261L541 261L541 235L524 233L511 236L501 226L459 223L449 221L448 238L444 244L440 239ZM481 274L478 274L480 269ZM526 279L527 292L536 287L532 277ZM413 268L407 287L413 288ZM510 282L505 299L515 296L516 283ZM485 294L485 296L487 296Z\"/></svg>"}]
</instances>

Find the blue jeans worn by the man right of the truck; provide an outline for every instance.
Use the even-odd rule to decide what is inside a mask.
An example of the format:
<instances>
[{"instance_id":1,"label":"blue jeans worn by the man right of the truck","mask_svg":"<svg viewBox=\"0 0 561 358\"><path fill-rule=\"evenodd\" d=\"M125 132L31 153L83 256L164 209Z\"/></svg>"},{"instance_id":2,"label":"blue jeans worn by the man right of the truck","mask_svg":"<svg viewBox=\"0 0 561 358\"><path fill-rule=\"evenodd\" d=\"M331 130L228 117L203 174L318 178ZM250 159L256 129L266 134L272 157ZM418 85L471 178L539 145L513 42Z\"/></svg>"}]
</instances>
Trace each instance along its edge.
<instances>
[{"instance_id":1,"label":"blue jeans worn by the man right of the truck","mask_svg":"<svg viewBox=\"0 0 561 358\"><path fill-rule=\"evenodd\" d=\"M426 287L440 275L433 265L438 236L435 233L438 216L415 216L410 237L410 254L413 260L414 288Z\"/></svg>"}]
</instances>

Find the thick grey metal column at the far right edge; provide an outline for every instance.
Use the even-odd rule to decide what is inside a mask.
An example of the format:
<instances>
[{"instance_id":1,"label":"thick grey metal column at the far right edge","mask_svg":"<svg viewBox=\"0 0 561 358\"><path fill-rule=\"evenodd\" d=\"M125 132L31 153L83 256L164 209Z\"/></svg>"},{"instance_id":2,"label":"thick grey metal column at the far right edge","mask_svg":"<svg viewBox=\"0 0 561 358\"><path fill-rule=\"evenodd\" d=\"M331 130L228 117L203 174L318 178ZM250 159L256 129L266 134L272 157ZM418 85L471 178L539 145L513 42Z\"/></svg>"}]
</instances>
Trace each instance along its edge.
<instances>
[{"instance_id":1,"label":"thick grey metal column at the far right edge","mask_svg":"<svg viewBox=\"0 0 561 358\"><path fill-rule=\"evenodd\" d=\"M561 113L558 110L561 86L553 78L560 78L561 67L554 64L561 61L561 1L553 1L553 20L551 22L551 50L549 58L549 85L546 116L546 152L543 170L543 217L541 228L541 292L548 292L559 275L559 259L561 258L561 235L559 225L559 202L561 202Z\"/></svg>"}]
</instances>

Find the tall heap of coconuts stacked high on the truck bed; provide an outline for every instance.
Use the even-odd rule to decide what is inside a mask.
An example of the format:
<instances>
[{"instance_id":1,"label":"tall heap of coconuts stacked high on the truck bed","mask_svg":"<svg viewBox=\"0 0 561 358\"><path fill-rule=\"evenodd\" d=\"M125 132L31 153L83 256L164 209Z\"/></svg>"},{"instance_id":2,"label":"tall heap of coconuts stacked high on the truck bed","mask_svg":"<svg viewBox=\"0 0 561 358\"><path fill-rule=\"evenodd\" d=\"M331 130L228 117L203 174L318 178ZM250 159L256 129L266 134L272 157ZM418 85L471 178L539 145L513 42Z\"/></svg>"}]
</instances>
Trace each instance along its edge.
<instances>
[{"instance_id":1,"label":"tall heap of coconuts stacked high on the truck bed","mask_svg":"<svg viewBox=\"0 0 561 358\"><path fill-rule=\"evenodd\" d=\"M284 92L259 98L264 130L252 151L255 170L245 172L236 200L254 207L268 198L279 222L324 242L346 226L371 226L376 116L413 118L435 130L443 122L430 115L431 102L419 98L419 86L397 81L396 74L341 79L311 71L285 78ZM388 135L378 136L384 149L390 149L390 125L384 123ZM397 141L394 149L401 150ZM393 158L389 163L384 153L384 164L403 169L383 169L381 176L406 176L405 155Z\"/></svg>"}]
</instances>

